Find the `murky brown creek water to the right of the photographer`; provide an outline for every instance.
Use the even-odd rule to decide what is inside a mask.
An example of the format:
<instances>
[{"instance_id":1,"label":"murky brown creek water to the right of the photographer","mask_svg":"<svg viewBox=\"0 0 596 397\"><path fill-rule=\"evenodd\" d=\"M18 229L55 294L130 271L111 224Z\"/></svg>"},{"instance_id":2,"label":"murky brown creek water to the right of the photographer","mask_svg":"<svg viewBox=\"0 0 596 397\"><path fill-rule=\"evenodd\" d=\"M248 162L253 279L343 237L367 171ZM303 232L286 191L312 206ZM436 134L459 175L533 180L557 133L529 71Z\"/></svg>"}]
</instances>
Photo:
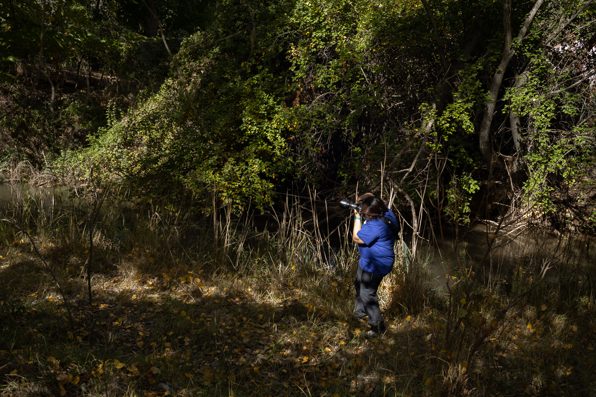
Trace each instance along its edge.
<instances>
[{"instance_id":1,"label":"murky brown creek water to the right of the photographer","mask_svg":"<svg viewBox=\"0 0 596 397\"><path fill-rule=\"evenodd\" d=\"M547 280L564 276L562 271L581 270L596 260L594 237L579 233L559 233L538 227L509 227L476 224L470 227L443 227L443 237L423 239L420 254L432 263L432 277L445 285L449 277L457 278L460 264L471 268L485 282L510 283L520 271L538 270L548 262L553 265ZM493 238L491 238L493 237Z\"/></svg>"}]
</instances>

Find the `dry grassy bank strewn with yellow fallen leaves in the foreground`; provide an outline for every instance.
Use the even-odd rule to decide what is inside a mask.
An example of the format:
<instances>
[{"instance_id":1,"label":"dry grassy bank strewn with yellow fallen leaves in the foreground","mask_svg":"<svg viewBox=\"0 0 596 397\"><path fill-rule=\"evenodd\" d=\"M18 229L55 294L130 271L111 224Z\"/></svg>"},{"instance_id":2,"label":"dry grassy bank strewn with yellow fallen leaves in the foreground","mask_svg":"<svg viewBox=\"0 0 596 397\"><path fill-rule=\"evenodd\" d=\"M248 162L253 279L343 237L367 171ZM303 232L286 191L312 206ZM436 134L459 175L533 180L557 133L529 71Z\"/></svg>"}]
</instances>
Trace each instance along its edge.
<instances>
[{"instance_id":1,"label":"dry grassy bank strewn with yellow fallen leaves in the foreground","mask_svg":"<svg viewBox=\"0 0 596 397\"><path fill-rule=\"evenodd\" d=\"M430 287L428 260L402 254L381 292L389 330L367 340L366 324L351 316L358 252L346 244L332 260L321 255L321 233L299 205L277 218L275 232L226 211L193 218L118 202L104 202L90 223L94 208L29 198L2 216L32 236L66 295L27 236L3 222L2 396L596 390L592 289L531 289L539 265L524 264L519 292L507 295L468 277L464 263L449 292Z\"/></svg>"}]
</instances>

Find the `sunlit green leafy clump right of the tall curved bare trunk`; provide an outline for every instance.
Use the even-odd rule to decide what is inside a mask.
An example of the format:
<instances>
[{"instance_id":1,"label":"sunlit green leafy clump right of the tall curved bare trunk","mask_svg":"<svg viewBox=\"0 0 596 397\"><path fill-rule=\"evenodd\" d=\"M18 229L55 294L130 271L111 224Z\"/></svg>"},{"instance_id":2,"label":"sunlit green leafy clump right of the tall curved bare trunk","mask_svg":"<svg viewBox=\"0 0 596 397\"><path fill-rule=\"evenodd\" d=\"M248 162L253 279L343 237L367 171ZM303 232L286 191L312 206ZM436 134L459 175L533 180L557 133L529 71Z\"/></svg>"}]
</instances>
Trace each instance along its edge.
<instances>
[{"instance_id":1,"label":"sunlit green leafy clump right of the tall curved bare trunk","mask_svg":"<svg viewBox=\"0 0 596 397\"><path fill-rule=\"evenodd\" d=\"M573 80L576 74L556 63L569 56L565 50L547 56L536 54L528 46L520 47L526 51L532 68L524 74L522 86L508 90L505 99L510 105L505 110L528 120L525 160L529 177L523 186L526 199L530 205L539 204L547 211L555 211L555 186L573 185L586 176L586 165L593 161L594 129L572 120L581 120L594 110L583 106L586 98L581 89L562 84Z\"/></svg>"}]
</instances>

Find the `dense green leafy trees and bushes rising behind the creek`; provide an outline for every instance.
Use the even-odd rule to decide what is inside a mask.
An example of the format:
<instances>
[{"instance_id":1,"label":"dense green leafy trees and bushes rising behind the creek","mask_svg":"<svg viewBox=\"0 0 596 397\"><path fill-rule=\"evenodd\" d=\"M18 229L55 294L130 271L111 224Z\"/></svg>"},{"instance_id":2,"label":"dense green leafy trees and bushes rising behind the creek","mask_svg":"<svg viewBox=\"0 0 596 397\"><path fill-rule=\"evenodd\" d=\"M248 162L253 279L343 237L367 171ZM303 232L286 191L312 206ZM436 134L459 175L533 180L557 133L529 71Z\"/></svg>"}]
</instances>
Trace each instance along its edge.
<instances>
[{"instance_id":1,"label":"dense green leafy trees and bushes rising behind the creek","mask_svg":"<svg viewBox=\"0 0 596 397\"><path fill-rule=\"evenodd\" d=\"M142 194L210 192L241 209L290 183L384 182L465 221L490 210L480 193L550 211L591 177L591 0L9 6L4 62L60 51L162 79L134 103L104 98L111 118L60 157L91 156Z\"/></svg>"}]
</instances>

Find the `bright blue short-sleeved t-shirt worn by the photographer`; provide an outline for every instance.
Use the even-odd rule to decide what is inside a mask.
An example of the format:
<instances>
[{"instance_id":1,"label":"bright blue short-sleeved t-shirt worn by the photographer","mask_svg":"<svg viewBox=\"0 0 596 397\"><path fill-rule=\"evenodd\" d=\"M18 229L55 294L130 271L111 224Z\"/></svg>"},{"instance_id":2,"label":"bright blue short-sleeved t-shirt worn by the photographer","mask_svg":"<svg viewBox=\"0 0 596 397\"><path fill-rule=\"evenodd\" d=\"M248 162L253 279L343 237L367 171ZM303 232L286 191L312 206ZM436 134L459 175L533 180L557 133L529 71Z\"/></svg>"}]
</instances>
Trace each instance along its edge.
<instances>
[{"instance_id":1,"label":"bright blue short-sleeved t-shirt worn by the photographer","mask_svg":"<svg viewBox=\"0 0 596 397\"><path fill-rule=\"evenodd\" d=\"M385 212L385 217L393 221L394 224L398 224L398 220L391 210L388 209ZM362 270L381 275L393 270L395 236L387 224L380 219L365 221L362 229L356 235L364 241L364 244L358 244Z\"/></svg>"}]
</instances>

